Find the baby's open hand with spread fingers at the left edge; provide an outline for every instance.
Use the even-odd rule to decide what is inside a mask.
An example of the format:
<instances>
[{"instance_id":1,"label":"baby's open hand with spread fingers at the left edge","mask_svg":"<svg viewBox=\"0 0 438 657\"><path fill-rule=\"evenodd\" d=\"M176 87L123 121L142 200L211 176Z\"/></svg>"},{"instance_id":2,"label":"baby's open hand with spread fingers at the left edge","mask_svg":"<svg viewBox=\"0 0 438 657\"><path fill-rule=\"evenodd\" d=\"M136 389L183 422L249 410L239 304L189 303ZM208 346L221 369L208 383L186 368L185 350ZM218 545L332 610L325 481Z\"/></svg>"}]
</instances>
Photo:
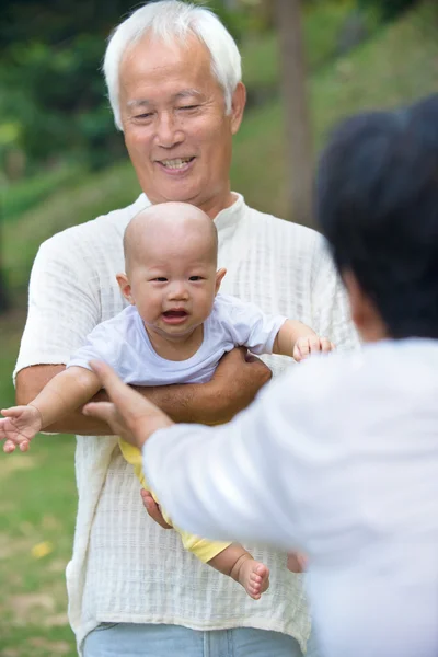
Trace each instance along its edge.
<instances>
[{"instance_id":1,"label":"baby's open hand with spread fingers at the left edge","mask_svg":"<svg viewBox=\"0 0 438 657\"><path fill-rule=\"evenodd\" d=\"M5 440L3 451L27 451L32 438L42 428L42 416L35 406L13 406L1 411L4 419L0 419L0 440Z\"/></svg>"}]
</instances>

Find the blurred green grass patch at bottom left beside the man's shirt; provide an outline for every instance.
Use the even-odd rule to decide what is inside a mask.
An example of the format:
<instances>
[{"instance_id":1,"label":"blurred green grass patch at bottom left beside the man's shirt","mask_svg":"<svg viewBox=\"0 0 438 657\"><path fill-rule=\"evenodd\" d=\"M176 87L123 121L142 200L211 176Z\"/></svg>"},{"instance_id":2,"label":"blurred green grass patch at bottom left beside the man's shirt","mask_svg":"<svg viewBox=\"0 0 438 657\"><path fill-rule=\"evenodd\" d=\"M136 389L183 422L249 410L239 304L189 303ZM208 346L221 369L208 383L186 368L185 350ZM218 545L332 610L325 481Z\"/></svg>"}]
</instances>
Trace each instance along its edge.
<instances>
[{"instance_id":1,"label":"blurred green grass patch at bottom left beside the man's shirt","mask_svg":"<svg viewBox=\"0 0 438 657\"><path fill-rule=\"evenodd\" d=\"M73 656L64 572L74 527L74 443L38 437L0 456L0 655Z\"/></svg>"}]
</instances>

